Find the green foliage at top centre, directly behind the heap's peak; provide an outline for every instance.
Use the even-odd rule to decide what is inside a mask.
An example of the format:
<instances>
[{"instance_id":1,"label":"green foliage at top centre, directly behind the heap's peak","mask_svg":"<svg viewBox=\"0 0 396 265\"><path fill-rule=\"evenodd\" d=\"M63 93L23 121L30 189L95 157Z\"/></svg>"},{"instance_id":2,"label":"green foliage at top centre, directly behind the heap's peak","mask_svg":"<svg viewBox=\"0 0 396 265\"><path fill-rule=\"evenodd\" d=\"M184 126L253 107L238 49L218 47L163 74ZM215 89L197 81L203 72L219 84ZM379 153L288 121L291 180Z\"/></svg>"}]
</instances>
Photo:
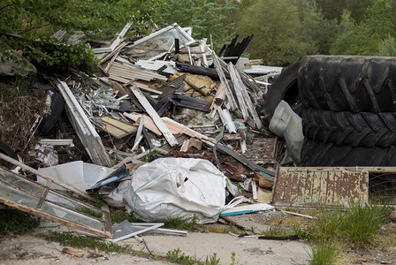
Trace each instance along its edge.
<instances>
[{"instance_id":1,"label":"green foliage at top centre, directly behind the heap's peak","mask_svg":"<svg viewBox=\"0 0 396 265\"><path fill-rule=\"evenodd\" d=\"M164 22L178 23L180 27L193 27L194 39L213 38L215 50L232 39L228 31L233 27L225 19L233 6L230 2L219 0L169 0L163 9Z\"/></svg>"}]
</instances>

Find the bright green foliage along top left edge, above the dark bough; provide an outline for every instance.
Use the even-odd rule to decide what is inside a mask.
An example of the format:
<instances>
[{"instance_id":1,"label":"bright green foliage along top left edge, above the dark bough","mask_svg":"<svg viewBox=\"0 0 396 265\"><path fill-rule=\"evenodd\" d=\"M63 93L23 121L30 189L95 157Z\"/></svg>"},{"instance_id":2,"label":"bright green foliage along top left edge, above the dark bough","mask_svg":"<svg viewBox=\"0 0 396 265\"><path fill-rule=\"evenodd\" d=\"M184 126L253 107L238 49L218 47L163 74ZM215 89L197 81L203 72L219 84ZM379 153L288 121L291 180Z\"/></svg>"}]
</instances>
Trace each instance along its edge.
<instances>
[{"instance_id":1,"label":"bright green foliage along top left edge, above the dark bough","mask_svg":"<svg viewBox=\"0 0 396 265\"><path fill-rule=\"evenodd\" d=\"M0 33L27 33L31 27L49 22L57 28L106 38L114 36L126 22L144 29L141 21L158 20L158 8L163 5L159 0L4 0Z\"/></svg>"}]
</instances>

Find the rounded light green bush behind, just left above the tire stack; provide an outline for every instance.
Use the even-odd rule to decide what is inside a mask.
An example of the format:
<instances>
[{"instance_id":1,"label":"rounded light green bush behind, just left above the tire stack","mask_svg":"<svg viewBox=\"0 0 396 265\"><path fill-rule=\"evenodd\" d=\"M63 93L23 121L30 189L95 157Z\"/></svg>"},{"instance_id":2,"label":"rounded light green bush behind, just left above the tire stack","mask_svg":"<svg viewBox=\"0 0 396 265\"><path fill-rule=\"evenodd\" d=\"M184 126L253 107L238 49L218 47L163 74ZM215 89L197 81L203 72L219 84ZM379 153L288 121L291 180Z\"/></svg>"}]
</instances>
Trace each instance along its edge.
<instances>
[{"instance_id":1,"label":"rounded light green bush behind, just left above the tire stack","mask_svg":"<svg viewBox=\"0 0 396 265\"><path fill-rule=\"evenodd\" d=\"M291 0L252 1L241 14L237 33L255 34L247 51L264 64L286 64L316 51L306 41L297 5Z\"/></svg>"}]
</instances>

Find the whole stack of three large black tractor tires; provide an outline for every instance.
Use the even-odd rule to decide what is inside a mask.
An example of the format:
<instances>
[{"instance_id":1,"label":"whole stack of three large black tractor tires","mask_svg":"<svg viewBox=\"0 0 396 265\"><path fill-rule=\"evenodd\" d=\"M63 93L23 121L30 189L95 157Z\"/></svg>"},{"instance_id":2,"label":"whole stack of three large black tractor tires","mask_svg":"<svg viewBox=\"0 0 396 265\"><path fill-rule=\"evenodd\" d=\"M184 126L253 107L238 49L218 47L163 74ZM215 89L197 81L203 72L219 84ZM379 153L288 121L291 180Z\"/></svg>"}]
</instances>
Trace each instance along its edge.
<instances>
[{"instance_id":1,"label":"whole stack of three large black tractor tires","mask_svg":"<svg viewBox=\"0 0 396 265\"><path fill-rule=\"evenodd\" d=\"M396 57L302 57L303 166L396 165Z\"/></svg>"}]
</instances>

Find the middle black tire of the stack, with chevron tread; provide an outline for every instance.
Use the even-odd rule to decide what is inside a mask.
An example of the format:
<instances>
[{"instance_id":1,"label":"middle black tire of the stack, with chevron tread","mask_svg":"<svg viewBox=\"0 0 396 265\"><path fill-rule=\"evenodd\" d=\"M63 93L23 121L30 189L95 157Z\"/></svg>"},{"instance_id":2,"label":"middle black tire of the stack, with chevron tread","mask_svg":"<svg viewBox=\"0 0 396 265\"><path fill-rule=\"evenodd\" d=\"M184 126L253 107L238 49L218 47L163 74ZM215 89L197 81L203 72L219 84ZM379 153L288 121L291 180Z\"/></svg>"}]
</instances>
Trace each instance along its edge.
<instances>
[{"instance_id":1,"label":"middle black tire of the stack, with chevron tread","mask_svg":"<svg viewBox=\"0 0 396 265\"><path fill-rule=\"evenodd\" d=\"M388 148L396 145L396 113L304 109L302 132L306 138L324 143Z\"/></svg>"}]
</instances>

